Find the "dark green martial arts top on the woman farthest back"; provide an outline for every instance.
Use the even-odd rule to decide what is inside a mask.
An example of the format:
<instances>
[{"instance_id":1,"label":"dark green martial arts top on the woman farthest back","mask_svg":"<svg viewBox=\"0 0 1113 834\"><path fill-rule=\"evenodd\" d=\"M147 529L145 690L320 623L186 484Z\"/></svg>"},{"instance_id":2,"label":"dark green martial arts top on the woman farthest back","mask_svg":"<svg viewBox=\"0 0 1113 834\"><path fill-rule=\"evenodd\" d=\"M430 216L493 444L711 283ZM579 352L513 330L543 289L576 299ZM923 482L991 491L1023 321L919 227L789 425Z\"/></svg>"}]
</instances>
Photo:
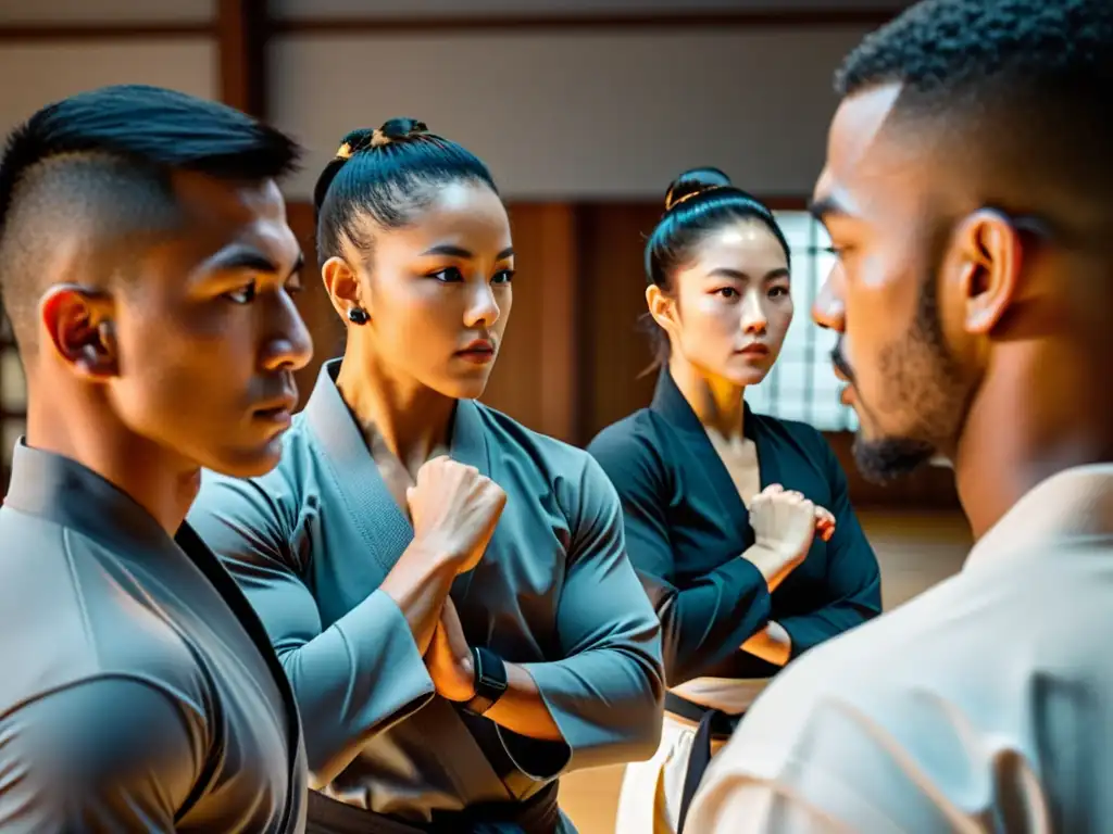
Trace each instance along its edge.
<instances>
[{"instance_id":1,"label":"dark green martial arts top on the woman farthest back","mask_svg":"<svg viewBox=\"0 0 1113 834\"><path fill-rule=\"evenodd\" d=\"M881 613L877 557L824 436L749 406L742 429L757 447L762 489L796 489L836 520L830 542L816 536L772 594L740 558L754 544L749 512L668 368L649 408L588 446L622 498L630 560L661 617L669 686L701 676L776 675L779 666L741 648L770 619L788 632L795 658Z\"/></svg>"}]
</instances>

